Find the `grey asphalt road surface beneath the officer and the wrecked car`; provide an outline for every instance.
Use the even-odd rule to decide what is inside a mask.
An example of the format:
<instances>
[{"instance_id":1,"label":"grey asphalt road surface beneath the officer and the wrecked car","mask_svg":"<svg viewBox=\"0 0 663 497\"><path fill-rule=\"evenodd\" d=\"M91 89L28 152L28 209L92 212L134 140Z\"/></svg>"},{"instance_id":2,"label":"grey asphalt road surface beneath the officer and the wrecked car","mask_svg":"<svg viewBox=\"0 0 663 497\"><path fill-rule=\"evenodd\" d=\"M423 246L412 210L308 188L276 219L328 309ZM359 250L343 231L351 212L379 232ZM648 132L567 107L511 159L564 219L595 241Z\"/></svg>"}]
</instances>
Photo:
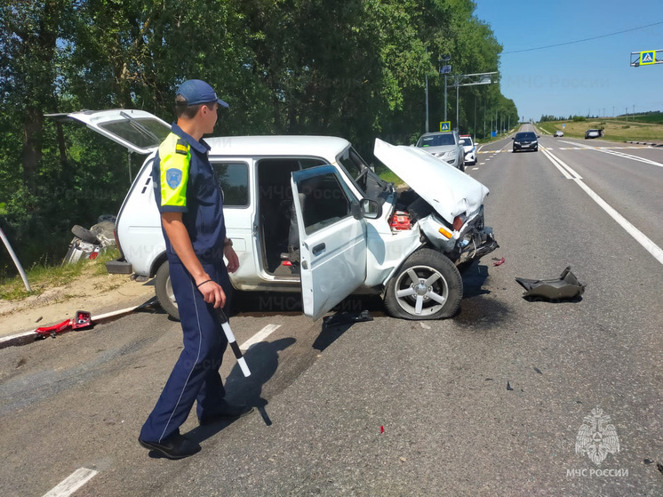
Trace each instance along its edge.
<instances>
[{"instance_id":1,"label":"grey asphalt road surface beneath the officer and the wrecked car","mask_svg":"<svg viewBox=\"0 0 663 497\"><path fill-rule=\"evenodd\" d=\"M260 410L187 421L203 445L187 460L136 442L181 347L163 313L0 350L0 493L44 495L87 468L76 496L663 495L663 150L539 141L547 152L513 154L500 140L467 167L491 189L500 248L464 275L457 317L395 320L347 301L375 320L326 327L292 296L244 301L240 344L280 326L245 353L250 379L231 353L221 373L230 398ZM582 300L523 300L515 277L566 266ZM576 453L595 408L619 437L600 464Z\"/></svg>"}]
</instances>

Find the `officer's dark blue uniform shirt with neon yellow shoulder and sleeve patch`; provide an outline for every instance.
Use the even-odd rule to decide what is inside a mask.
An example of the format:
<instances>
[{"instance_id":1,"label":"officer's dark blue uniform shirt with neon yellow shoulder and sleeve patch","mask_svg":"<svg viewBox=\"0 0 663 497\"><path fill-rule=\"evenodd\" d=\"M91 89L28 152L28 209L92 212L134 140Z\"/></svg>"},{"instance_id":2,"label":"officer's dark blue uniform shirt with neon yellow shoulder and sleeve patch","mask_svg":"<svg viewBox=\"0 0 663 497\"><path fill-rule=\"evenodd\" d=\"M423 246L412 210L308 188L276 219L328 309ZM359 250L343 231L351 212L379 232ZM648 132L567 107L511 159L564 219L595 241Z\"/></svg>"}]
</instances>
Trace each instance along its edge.
<instances>
[{"instance_id":1,"label":"officer's dark blue uniform shirt with neon yellow shoulder and sleeve patch","mask_svg":"<svg viewBox=\"0 0 663 497\"><path fill-rule=\"evenodd\" d=\"M208 158L210 146L172 124L152 164L159 212L182 212L194 252L201 262L223 261L226 223L223 194ZM162 227L163 229L163 227ZM169 261L180 261L164 231Z\"/></svg>"}]
</instances>

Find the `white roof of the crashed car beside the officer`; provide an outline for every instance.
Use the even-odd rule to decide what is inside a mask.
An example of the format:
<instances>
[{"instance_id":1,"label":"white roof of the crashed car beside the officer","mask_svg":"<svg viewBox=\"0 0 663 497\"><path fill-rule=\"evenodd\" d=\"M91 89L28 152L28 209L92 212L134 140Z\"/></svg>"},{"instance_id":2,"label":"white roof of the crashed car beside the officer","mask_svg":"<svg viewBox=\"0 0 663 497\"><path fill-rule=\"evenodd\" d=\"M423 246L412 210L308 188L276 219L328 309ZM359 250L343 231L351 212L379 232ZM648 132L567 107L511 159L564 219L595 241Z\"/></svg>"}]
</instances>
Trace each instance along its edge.
<instances>
[{"instance_id":1,"label":"white roof of the crashed car beside the officer","mask_svg":"<svg viewBox=\"0 0 663 497\"><path fill-rule=\"evenodd\" d=\"M336 157L350 142L335 136L225 136L204 138L213 155Z\"/></svg>"}]
</instances>

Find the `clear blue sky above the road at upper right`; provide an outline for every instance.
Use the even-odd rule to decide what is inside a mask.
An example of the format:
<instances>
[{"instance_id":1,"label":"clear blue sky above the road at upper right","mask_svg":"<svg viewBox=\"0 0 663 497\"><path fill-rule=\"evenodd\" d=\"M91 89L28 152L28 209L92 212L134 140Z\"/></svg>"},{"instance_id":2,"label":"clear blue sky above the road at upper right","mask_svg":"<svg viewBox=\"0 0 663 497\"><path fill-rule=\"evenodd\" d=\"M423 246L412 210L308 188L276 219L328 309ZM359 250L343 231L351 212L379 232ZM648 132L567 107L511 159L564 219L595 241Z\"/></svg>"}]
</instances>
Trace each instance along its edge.
<instances>
[{"instance_id":1,"label":"clear blue sky above the road at upper right","mask_svg":"<svg viewBox=\"0 0 663 497\"><path fill-rule=\"evenodd\" d=\"M475 0L499 44L501 91L525 120L663 111L663 64L632 68L631 52L663 50L660 0ZM641 28L614 36L531 52Z\"/></svg>"}]
</instances>

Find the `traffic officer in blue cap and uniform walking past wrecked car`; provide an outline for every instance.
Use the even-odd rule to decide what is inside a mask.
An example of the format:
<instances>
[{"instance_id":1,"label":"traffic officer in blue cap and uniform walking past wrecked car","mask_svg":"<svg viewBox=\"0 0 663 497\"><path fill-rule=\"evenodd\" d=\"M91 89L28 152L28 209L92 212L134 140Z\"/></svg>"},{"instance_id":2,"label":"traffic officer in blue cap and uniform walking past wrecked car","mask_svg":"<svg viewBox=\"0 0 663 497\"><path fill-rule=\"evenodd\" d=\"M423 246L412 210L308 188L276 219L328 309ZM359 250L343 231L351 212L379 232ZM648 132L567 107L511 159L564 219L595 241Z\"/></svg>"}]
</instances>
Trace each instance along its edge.
<instances>
[{"instance_id":1,"label":"traffic officer in blue cap and uniform walking past wrecked car","mask_svg":"<svg viewBox=\"0 0 663 497\"><path fill-rule=\"evenodd\" d=\"M139 437L140 445L169 459L200 450L200 445L180 434L180 425L187 420L194 401L201 424L253 410L224 399L219 375L228 340L214 309L227 304L231 292L228 271L235 272L239 260L226 237L223 193L203 135L214 130L219 106L228 108L228 104L199 79L180 85L175 104L177 124L172 124L171 133L159 146L152 183L161 212L172 291L180 310L184 349Z\"/></svg>"}]
</instances>

